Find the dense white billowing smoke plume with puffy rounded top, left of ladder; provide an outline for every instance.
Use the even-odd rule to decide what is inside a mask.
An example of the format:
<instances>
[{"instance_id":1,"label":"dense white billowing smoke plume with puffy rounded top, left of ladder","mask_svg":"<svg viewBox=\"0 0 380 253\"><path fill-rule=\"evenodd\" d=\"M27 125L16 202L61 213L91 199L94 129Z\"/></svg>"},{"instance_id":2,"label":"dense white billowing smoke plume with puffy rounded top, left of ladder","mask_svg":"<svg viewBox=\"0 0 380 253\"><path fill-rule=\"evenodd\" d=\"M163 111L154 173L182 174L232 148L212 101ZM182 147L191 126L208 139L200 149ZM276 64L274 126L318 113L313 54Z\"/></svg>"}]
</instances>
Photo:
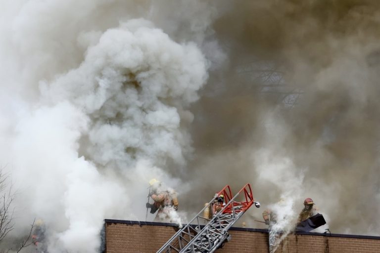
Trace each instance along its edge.
<instances>
[{"instance_id":1,"label":"dense white billowing smoke plume with puffy rounded top, left of ladder","mask_svg":"<svg viewBox=\"0 0 380 253\"><path fill-rule=\"evenodd\" d=\"M194 43L173 42L146 20L99 35L81 34L92 45L84 61L40 83L41 100L24 104L9 138L16 204L30 212L20 223L44 218L54 252L95 252L103 218L144 219L147 192L137 189L148 179L179 184L159 167L185 164L186 107L207 80Z\"/></svg>"}]
</instances>

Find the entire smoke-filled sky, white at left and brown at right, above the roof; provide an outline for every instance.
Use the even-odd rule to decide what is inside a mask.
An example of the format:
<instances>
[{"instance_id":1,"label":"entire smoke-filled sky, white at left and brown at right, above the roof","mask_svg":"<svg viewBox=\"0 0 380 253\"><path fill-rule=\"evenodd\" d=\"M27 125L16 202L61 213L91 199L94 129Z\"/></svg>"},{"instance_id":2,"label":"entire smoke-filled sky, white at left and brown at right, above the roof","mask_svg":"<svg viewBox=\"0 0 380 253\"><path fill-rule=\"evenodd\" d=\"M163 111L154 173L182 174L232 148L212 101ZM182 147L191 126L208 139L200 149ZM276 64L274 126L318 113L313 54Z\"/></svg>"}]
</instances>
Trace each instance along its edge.
<instances>
[{"instance_id":1,"label":"entire smoke-filled sky, white at left and brown at right, above the roof","mask_svg":"<svg viewBox=\"0 0 380 253\"><path fill-rule=\"evenodd\" d=\"M145 219L152 177L185 218L249 182L250 227L310 197L333 233L380 235L377 1L1 6L13 236L43 218L51 252L96 252L104 218Z\"/></svg>"}]
</instances>

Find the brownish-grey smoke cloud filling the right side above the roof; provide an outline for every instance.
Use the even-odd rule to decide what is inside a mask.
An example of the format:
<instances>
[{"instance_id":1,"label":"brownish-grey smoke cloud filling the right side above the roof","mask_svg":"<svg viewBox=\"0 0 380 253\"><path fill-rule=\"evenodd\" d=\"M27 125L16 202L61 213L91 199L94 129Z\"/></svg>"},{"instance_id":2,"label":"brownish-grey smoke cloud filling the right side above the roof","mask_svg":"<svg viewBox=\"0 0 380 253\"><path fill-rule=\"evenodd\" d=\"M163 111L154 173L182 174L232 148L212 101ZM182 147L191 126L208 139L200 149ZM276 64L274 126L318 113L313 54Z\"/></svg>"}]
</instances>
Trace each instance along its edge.
<instances>
[{"instance_id":1,"label":"brownish-grey smoke cloud filling the right side above the roof","mask_svg":"<svg viewBox=\"0 0 380 253\"><path fill-rule=\"evenodd\" d=\"M263 207L285 194L298 213L311 197L332 232L379 235L379 10L356 0L231 4L214 22L229 67L223 82L210 73L192 110L190 181L238 190L251 178Z\"/></svg>"}]
</instances>

